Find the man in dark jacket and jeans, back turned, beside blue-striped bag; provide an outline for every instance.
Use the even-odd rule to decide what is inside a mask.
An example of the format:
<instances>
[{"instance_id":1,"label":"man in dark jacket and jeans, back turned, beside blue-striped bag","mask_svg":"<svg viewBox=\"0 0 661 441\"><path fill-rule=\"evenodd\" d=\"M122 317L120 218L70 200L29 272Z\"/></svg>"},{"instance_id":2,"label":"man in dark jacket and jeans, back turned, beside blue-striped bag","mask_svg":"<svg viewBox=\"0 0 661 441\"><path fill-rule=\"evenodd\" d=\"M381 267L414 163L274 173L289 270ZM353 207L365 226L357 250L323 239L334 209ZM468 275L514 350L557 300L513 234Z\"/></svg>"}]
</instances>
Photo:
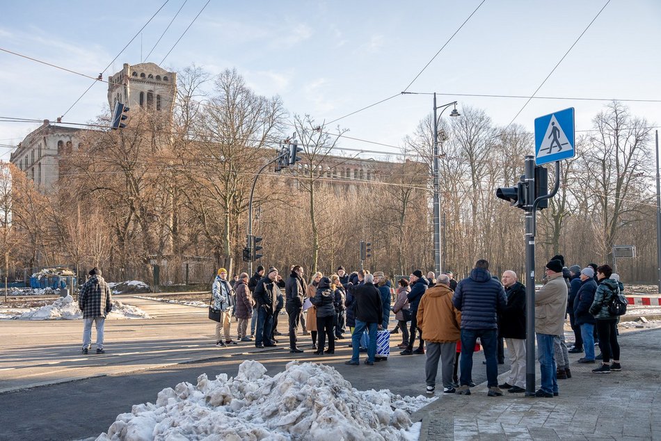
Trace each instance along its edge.
<instances>
[{"instance_id":1,"label":"man in dark jacket and jeans, back turned, beside blue-striped bag","mask_svg":"<svg viewBox=\"0 0 661 441\"><path fill-rule=\"evenodd\" d=\"M374 364L376 357L376 330L381 329L383 320L383 305L379 289L374 286L374 275L365 275L365 283L358 285L353 291L355 296L354 305L356 311L356 328L351 335L351 344L353 354L351 360L345 364L360 364L358 357L360 355L360 336L367 328L369 334L369 343L367 345L367 360L365 364Z\"/></svg>"}]
</instances>

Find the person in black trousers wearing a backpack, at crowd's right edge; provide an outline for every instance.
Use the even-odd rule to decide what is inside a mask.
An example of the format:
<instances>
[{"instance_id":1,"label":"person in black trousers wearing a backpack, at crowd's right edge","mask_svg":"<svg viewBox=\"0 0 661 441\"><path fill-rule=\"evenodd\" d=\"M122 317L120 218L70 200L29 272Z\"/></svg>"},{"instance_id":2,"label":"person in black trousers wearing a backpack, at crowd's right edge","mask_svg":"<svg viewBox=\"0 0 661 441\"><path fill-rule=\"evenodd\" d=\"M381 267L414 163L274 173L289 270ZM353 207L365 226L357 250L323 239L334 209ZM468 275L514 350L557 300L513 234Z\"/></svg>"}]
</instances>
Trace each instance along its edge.
<instances>
[{"instance_id":1,"label":"person in black trousers wearing a backpack, at crowd's right edge","mask_svg":"<svg viewBox=\"0 0 661 441\"><path fill-rule=\"evenodd\" d=\"M617 342L617 318L609 305L619 296L619 283L611 279L613 270L609 265L597 268L597 291L594 294L594 302L590 307L590 314L596 320L597 334L599 336L599 348L603 354L600 367L592 369L595 374L607 374L610 371L621 371L620 346ZM612 358L612 364L610 364Z\"/></svg>"}]
</instances>

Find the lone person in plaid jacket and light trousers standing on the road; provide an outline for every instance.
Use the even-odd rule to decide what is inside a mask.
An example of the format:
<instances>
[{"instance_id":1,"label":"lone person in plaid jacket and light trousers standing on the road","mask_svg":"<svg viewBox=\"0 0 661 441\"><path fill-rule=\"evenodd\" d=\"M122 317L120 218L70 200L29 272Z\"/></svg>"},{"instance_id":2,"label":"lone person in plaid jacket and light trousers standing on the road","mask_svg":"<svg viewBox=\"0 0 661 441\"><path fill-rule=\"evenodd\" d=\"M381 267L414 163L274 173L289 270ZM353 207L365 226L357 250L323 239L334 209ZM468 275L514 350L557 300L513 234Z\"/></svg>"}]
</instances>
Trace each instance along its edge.
<instances>
[{"instance_id":1,"label":"lone person in plaid jacket and light trousers standing on the road","mask_svg":"<svg viewBox=\"0 0 661 441\"><path fill-rule=\"evenodd\" d=\"M92 323L97 328L97 354L105 353L103 348L103 328L106 315L113 309L113 296L110 287L101 277L96 266L90 270L90 277L80 290L78 306L83 312L83 354L88 353L92 344Z\"/></svg>"}]
</instances>

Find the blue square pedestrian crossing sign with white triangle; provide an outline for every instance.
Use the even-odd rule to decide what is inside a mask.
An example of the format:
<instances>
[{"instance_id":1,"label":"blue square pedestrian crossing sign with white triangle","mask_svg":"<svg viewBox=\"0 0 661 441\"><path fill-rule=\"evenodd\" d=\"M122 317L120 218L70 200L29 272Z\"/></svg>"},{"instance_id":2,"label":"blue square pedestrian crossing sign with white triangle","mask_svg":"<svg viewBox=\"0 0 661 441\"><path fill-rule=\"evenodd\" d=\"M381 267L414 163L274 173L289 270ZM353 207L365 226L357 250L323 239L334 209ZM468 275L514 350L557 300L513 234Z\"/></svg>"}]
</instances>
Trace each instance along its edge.
<instances>
[{"instance_id":1,"label":"blue square pedestrian crossing sign with white triangle","mask_svg":"<svg viewBox=\"0 0 661 441\"><path fill-rule=\"evenodd\" d=\"M535 163L542 164L573 158L574 108L535 118Z\"/></svg>"}]
</instances>

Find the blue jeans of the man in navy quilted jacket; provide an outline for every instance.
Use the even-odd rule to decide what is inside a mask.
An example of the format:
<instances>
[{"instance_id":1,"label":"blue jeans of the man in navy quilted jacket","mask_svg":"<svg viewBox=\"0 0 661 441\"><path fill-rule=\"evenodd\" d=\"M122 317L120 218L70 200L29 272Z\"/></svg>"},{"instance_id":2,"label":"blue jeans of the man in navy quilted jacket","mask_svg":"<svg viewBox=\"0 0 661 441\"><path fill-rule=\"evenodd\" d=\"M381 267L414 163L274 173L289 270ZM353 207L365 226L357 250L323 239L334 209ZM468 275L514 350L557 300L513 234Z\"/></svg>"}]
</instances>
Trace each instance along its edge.
<instances>
[{"instance_id":1,"label":"blue jeans of the man in navy quilted jacket","mask_svg":"<svg viewBox=\"0 0 661 441\"><path fill-rule=\"evenodd\" d=\"M461 385L468 385L471 381L473 369L473 351L475 351L475 342L479 337L484 348L484 358L486 359L486 380L488 387L498 385L498 362L497 353L497 330L495 329L462 329L461 330L461 375L459 381Z\"/></svg>"}]
</instances>

